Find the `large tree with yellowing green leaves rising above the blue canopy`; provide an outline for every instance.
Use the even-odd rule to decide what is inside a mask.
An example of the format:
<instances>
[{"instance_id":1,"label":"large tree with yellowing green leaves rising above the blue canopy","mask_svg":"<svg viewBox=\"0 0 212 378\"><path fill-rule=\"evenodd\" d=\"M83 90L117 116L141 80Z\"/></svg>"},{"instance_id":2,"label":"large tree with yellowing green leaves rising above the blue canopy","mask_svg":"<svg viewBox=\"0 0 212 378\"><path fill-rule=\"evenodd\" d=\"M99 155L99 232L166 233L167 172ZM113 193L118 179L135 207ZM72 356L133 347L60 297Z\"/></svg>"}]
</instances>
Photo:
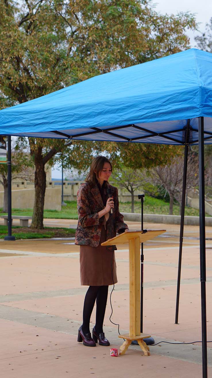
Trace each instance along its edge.
<instances>
[{"instance_id":1,"label":"large tree with yellowing green leaves rising above the blue canopy","mask_svg":"<svg viewBox=\"0 0 212 378\"><path fill-rule=\"evenodd\" d=\"M196 28L194 15L157 14L150 0L0 0L0 6L1 108L177 53L189 46L187 29ZM35 138L29 145L35 163L32 227L43 228L45 164L75 142Z\"/></svg>"}]
</instances>

